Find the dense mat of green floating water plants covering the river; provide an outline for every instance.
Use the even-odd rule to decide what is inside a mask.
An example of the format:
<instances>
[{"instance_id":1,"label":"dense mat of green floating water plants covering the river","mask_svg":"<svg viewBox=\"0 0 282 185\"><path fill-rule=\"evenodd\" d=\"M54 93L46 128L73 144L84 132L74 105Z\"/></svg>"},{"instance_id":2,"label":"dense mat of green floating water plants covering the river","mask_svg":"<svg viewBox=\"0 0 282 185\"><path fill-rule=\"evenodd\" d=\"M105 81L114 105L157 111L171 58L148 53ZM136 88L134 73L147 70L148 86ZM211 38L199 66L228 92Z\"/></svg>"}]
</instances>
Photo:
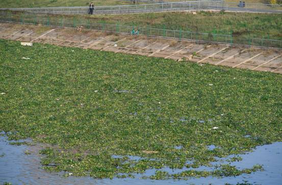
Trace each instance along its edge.
<instances>
[{"instance_id":1,"label":"dense mat of green floating water plants covering the river","mask_svg":"<svg viewBox=\"0 0 282 185\"><path fill-rule=\"evenodd\" d=\"M11 140L51 145L41 151L49 171L234 176L262 167L193 169L282 141L279 74L7 40L0 40L0 74L0 130ZM168 174L163 167L191 170Z\"/></svg>"}]
</instances>

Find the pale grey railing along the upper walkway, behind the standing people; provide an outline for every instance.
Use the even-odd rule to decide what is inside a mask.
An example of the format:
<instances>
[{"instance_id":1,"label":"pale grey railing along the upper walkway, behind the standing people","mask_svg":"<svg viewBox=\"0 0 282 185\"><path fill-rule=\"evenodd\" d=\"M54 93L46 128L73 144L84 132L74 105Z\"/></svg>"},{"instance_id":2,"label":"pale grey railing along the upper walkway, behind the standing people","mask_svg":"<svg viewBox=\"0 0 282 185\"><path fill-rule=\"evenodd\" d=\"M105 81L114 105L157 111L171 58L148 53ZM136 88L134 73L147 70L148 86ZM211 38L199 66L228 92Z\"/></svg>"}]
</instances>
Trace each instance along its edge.
<instances>
[{"instance_id":1,"label":"pale grey railing along the upper walkway, behind the standing people","mask_svg":"<svg viewBox=\"0 0 282 185\"><path fill-rule=\"evenodd\" d=\"M50 7L50 8L2 8L0 10L25 11L49 14L87 14L88 7ZM170 2L142 5L98 6L94 7L94 14L130 14L147 12L189 11L189 10L227 10L239 12L282 13L282 5L245 3L239 7L238 3L224 1L191 1Z\"/></svg>"}]
</instances>

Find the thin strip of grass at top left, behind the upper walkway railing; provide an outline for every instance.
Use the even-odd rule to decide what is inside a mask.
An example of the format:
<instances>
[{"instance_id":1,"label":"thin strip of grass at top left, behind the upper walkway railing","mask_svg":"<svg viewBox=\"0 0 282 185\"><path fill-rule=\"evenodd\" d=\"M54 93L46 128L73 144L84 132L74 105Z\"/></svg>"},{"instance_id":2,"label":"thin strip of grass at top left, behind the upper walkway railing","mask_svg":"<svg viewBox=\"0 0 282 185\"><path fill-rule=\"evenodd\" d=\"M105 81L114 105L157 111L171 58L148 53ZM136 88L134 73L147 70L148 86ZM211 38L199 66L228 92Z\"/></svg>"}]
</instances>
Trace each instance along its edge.
<instances>
[{"instance_id":1,"label":"thin strip of grass at top left, behind the upper walkway railing","mask_svg":"<svg viewBox=\"0 0 282 185\"><path fill-rule=\"evenodd\" d=\"M33 8L33 7L73 7L88 6L88 0L3 0L0 1L1 8ZM94 6L105 5L130 5L131 2L119 0L95 0Z\"/></svg>"}]
</instances>

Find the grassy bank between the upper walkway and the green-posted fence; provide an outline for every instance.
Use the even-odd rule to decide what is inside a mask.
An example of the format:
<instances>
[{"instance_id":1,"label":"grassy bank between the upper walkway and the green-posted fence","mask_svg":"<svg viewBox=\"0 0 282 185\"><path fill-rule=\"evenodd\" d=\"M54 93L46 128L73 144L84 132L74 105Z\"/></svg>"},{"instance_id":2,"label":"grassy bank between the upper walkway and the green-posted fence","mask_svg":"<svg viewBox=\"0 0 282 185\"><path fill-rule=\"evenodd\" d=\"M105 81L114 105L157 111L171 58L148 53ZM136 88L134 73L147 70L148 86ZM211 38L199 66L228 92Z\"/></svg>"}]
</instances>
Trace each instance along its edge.
<instances>
[{"instance_id":1,"label":"grassy bank between the upper walkway and the green-posted fence","mask_svg":"<svg viewBox=\"0 0 282 185\"><path fill-rule=\"evenodd\" d=\"M12 15L12 16L11 16ZM201 33L233 34L235 39L239 37L248 39L266 38L282 39L282 14L260 13L230 13L230 12L198 12L196 15L185 12L145 13L134 15L48 15L24 14L19 12L3 12L2 18L20 22L39 21L46 24L47 17L50 25L97 27L95 24L105 23L113 25L127 25L136 27L159 28L167 30L182 30ZM88 26L87 26L88 25ZM74 27L75 27L74 26ZM101 26L100 26L101 27ZM100 28L101 29L101 28ZM116 30L116 27L112 27ZM142 31L142 30L141 30ZM157 33L158 34L158 33ZM162 33L161 33L162 35Z\"/></svg>"}]
</instances>

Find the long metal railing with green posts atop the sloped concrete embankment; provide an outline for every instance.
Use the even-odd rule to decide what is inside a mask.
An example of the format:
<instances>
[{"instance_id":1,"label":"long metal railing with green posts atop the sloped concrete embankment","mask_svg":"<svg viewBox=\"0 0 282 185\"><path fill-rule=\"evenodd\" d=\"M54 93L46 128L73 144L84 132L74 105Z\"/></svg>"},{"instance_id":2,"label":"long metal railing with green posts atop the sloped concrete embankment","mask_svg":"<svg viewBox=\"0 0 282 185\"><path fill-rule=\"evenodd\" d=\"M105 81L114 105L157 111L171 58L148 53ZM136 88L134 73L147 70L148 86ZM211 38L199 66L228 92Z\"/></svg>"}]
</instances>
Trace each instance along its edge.
<instances>
[{"instance_id":1,"label":"long metal railing with green posts atop the sloped concrete embankment","mask_svg":"<svg viewBox=\"0 0 282 185\"><path fill-rule=\"evenodd\" d=\"M266 48L282 49L282 40L261 39L232 34L201 33L182 30L167 30L147 27L125 26L119 24L97 23L87 17L56 16L34 13L18 13L0 10L0 21L16 22L19 24L43 25L52 27L84 27L86 29L99 30L103 32L131 33L133 28L138 29L140 35L148 37L163 37L175 40L190 40L199 43L219 43L225 45L245 45L248 47L258 46Z\"/></svg>"}]
</instances>

